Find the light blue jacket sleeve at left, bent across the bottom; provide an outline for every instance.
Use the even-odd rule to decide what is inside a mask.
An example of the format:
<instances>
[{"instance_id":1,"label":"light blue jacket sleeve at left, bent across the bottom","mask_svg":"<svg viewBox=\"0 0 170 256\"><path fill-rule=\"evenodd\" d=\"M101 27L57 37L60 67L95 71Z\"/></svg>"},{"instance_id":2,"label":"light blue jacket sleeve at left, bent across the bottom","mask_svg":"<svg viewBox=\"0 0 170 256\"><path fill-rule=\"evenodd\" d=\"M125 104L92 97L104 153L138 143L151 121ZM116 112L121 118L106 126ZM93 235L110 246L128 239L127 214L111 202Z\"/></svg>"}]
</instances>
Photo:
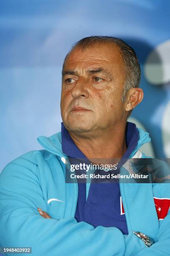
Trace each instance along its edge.
<instances>
[{"instance_id":1,"label":"light blue jacket sleeve at left, bent across the bottom","mask_svg":"<svg viewBox=\"0 0 170 256\"><path fill-rule=\"evenodd\" d=\"M32 247L32 256L125 254L127 239L118 228L94 228L75 218L45 219L37 211L41 205L45 201L34 168L8 164L0 174L0 247ZM133 239L138 251L143 248Z\"/></svg>"}]
</instances>

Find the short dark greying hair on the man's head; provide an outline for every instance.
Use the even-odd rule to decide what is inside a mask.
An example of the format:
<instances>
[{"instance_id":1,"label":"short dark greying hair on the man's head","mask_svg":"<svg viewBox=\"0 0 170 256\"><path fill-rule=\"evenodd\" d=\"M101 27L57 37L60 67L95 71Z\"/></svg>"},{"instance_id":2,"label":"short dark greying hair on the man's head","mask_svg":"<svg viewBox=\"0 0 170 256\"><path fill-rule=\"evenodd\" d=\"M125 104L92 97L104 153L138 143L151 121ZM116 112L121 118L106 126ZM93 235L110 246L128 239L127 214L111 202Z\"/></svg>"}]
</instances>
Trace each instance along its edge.
<instances>
[{"instance_id":1,"label":"short dark greying hair on the man's head","mask_svg":"<svg viewBox=\"0 0 170 256\"><path fill-rule=\"evenodd\" d=\"M82 48L82 50L83 49L85 50L88 47L94 46L95 44L107 44L107 43L113 43L119 46L120 53L122 54L122 59L124 61L124 69L126 74L125 84L122 92L122 101L125 102L130 88L139 87L140 77L141 77L141 70L140 70L138 57L131 46L125 43L125 41L123 41L122 39L116 38L113 36L88 36L77 41L72 46L72 49L70 50L70 52L76 47L80 47ZM65 56L65 60L67 59L68 54ZM63 63L63 67L65 64L65 60Z\"/></svg>"}]
</instances>

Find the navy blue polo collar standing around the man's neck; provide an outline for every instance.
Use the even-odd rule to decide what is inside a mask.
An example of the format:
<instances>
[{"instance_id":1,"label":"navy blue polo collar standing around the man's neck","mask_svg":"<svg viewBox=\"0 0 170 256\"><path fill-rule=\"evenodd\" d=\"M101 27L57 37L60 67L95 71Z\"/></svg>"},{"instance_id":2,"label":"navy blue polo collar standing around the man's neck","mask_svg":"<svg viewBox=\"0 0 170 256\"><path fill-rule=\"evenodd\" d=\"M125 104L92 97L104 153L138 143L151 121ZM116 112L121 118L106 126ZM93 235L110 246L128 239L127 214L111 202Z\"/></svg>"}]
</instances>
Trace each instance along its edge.
<instances>
[{"instance_id":1,"label":"navy blue polo collar standing around the man's neck","mask_svg":"<svg viewBox=\"0 0 170 256\"><path fill-rule=\"evenodd\" d=\"M126 125L126 144L127 150L122 158L129 158L130 154L135 150L138 140L139 133L134 123L127 122ZM65 128L64 124L61 123L61 138L62 138L62 152L70 158L84 159L86 156L80 151L72 140L69 132Z\"/></svg>"}]
</instances>

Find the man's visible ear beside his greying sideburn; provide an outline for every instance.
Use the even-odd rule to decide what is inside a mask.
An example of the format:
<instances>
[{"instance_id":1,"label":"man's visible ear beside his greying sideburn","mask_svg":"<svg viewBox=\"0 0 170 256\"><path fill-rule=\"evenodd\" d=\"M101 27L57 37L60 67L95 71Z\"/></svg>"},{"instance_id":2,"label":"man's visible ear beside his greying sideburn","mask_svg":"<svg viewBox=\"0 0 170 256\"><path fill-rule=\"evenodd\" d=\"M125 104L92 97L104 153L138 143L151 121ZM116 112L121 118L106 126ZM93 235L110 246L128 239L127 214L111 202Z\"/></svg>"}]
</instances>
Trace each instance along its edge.
<instances>
[{"instance_id":1,"label":"man's visible ear beside his greying sideburn","mask_svg":"<svg viewBox=\"0 0 170 256\"><path fill-rule=\"evenodd\" d=\"M125 110L133 110L142 100L143 90L141 88L130 88L125 103Z\"/></svg>"}]
</instances>

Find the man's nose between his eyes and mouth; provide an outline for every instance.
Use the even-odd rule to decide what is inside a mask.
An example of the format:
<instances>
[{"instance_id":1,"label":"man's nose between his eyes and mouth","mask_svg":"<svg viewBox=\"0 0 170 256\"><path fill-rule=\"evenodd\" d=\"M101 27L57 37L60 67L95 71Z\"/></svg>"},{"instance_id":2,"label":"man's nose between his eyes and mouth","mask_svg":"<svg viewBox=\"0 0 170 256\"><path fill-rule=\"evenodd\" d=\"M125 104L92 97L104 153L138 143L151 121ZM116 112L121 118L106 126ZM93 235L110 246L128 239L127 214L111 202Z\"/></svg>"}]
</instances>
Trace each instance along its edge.
<instances>
[{"instance_id":1,"label":"man's nose between his eyes and mouth","mask_svg":"<svg viewBox=\"0 0 170 256\"><path fill-rule=\"evenodd\" d=\"M75 83L75 86L72 88L72 97L77 99L79 97L88 98L89 93L87 89L87 81L83 79L82 77L79 77L77 82Z\"/></svg>"}]
</instances>

